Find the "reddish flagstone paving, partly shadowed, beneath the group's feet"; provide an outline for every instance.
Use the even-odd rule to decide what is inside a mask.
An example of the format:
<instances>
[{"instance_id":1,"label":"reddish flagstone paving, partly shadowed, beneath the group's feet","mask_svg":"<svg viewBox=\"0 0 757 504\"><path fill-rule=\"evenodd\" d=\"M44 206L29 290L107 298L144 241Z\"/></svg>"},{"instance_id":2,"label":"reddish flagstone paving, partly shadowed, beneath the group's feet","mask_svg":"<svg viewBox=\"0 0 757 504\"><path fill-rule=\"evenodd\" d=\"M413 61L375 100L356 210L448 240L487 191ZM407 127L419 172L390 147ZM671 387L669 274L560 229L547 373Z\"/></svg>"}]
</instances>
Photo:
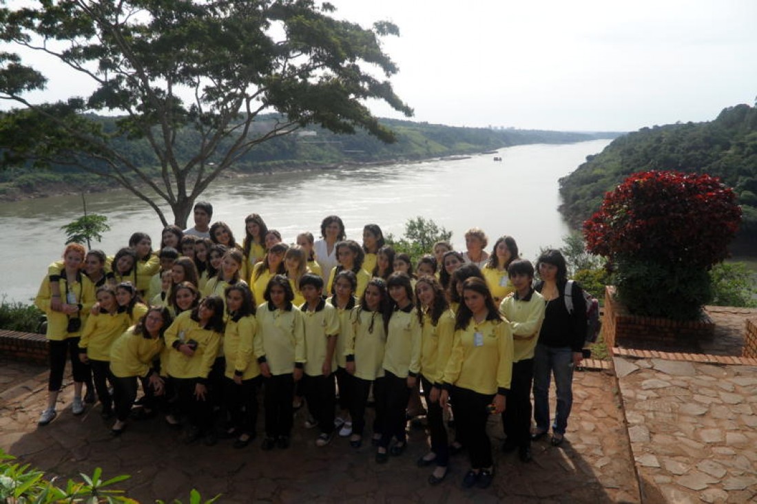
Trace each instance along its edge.
<instances>
[{"instance_id":1,"label":"reddish flagstone paving, partly shadowed, beneath the group's feet","mask_svg":"<svg viewBox=\"0 0 757 504\"><path fill-rule=\"evenodd\" d=\"M114 438L99 406L88 407L80 417L71 415L70 385L61 393L58 418L38 428L46 373L29 366L24 375L6 364L0 359L0 376L14 378L0 381L7 395L0 398L0 447L49 475L70 478L95 467L106 476L131 474L119 486L140 502L188 502L192 487L205 497L222 494L220 502L640 502L611 372L576 373L574 411L562 446L534 443L530 464L496 450L492 487L463 490L465 454L453 457L441 485L427 484L431 469L416 467L425 453L421 428L410 428L407 452L385 465L375 463L370 443L354 450L340 438L317 448L316 433L302 427L302 413L288 450L263 452L257 441L245 450L232 449L227 440L185 446L180 434L158 419L134 422ZM496 417L489 428L498 447L502 431Z\"/></svg>"}]
</instances>

